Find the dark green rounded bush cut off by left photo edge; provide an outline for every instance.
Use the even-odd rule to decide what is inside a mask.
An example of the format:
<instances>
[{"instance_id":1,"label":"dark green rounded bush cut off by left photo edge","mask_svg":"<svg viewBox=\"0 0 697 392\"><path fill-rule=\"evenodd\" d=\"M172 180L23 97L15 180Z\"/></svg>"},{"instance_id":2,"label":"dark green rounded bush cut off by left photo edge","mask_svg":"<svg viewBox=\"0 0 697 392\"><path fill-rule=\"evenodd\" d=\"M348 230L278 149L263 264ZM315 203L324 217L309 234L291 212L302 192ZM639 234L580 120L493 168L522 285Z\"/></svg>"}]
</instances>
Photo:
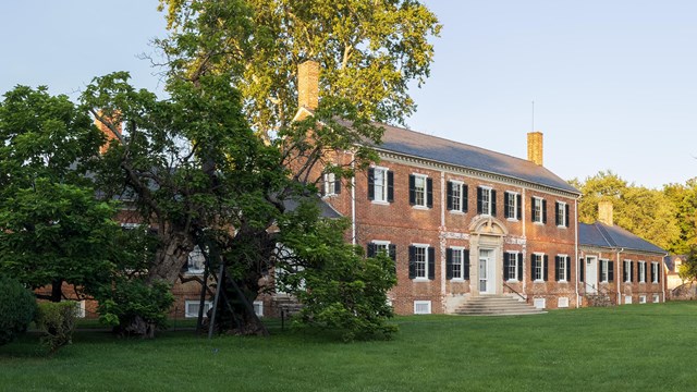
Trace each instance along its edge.
<instances>
[{"instance_id":1,"label":"dark green rounded bush cut off by left photo edge","mask_svg":"<svg viewBox=\"0 0 697 392\"><path fill-rule=\"evenodd\" d=\"M35 313L34 294L22 283L0 277L0 345L25 332Z\"/></svg>"}]
</instances>

